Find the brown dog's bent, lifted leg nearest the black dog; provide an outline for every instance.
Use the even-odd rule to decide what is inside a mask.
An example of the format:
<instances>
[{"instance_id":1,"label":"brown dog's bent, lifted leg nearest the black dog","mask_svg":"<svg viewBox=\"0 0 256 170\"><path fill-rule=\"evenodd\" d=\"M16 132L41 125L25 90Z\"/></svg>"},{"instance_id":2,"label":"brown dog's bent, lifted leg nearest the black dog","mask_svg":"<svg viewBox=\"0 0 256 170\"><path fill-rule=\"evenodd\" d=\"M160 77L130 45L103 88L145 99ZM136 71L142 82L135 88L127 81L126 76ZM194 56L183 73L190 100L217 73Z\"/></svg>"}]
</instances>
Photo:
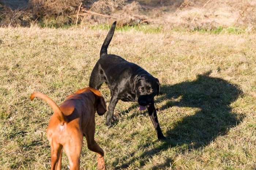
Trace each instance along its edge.
<instances>
[{"instance_id":1,"label":"brown dog's bent, lifted leg nearest the black dog","mask_svg":"<svg viewBox=\"0 0 256 170\"><path fill-rule=\"evenodd\" d=\"M85 132L85 137L87 141L87 147L89 150L96 152L98 154L97 162L98 162L98 169L99 170L105 170L105 161L104 161L104 151L101 147L98 146L96 141L94 140L94 134L95 134L95 121L91 120L90 125L88 125L90 128L88 128Z\"/></svg>"}]
</instances>

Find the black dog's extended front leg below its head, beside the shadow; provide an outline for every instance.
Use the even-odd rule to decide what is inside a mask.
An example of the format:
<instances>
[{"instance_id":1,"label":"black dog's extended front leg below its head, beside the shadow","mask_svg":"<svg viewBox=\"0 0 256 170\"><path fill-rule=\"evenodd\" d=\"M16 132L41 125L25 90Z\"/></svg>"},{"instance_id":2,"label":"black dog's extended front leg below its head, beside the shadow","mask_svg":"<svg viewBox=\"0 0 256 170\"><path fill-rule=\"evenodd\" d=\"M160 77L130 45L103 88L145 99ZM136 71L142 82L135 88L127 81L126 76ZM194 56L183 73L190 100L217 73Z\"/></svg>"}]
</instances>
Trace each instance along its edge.
<instances>
[{"instance_id":1,"label":"black dog's extended front leg below its head, beside the shadow","mask_svg":"<svg viewBox=\"0 0 256 170\"><path fill-rule=\"evenodd\" d=\"M153 122L153 125L155 127L155 131L157 132L157 138L159 140L165 140L165 136L163 136L163 133L161 131L158 119L157 119L157 110L155 110L154 106L154 99L151 101L151 105L148 107L148 114L150 116L151 121Z\"/></svg>"}]
</instances>

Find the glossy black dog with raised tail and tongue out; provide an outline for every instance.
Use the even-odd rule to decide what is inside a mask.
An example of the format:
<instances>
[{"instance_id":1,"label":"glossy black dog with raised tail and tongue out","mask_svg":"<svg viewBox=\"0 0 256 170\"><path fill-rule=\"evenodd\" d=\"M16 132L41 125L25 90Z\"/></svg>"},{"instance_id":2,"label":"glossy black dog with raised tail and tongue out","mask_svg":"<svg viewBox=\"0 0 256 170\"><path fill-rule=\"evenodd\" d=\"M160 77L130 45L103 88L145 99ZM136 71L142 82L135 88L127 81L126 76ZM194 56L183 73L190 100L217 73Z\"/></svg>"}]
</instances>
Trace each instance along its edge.
<instances>
[{"instance_id":1,"label":"glossy black dog with raised tail and tongue out","mask_svg":"<svg viewBox=\"0 0 256 170\"><path fill-rule=\"evenodd\" d=\"M165 139L157 119L154 106L154 96L159 94L161 85L158 79L134 63L123 58L108 54L108 46L113 37L116 22L114 22L101 47L100 58L90 77L89 86L99 89L106 82L111 91L111 100L106 116L106 125L111 124L114 108L118 100L125 102L138 101L139 110L148 109L159 140Z\"/></svg>"}]
</instances>

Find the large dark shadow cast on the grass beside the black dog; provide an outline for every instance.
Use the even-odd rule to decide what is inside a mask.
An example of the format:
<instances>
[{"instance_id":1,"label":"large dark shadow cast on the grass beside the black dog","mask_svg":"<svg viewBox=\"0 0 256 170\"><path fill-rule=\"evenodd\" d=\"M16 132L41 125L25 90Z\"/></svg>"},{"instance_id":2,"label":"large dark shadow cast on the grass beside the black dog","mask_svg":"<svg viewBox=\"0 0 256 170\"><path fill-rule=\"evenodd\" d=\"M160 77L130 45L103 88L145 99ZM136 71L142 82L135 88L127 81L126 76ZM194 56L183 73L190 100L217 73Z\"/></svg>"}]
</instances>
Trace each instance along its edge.
<instances>
[{"instance_id":1,"label":"large dark shadow cast on the grass beside the black dog","mask_svg":"<svg viewBox=\"0 0 256 170\"><path fill-rule=\"evenodd\" d=\"M130 153L133 156L131 160L121 166L117 166L118 160L116 160L113 166L123 169L138 159L141 160L140 165L143 166L149 158L174 146L184 147L186 150L207 146L218 136L225 135L230 128L237 126L244 115L234 113L230 105L242 95L240 87L224 79L211 77L210 73L197 75L197 79L192 82L182 82L172 86L163 85L161 96L155 102L163 103L160 108L157 108L158 111L173 106L197 109L192 110L193 113L186 112L188 115L183 115L180 121L173 122L172 128L167 127L167 140L162 141L161 145L157 144L158 147L147 150L148 146L159 142L149 141L143 146L138 146L138 149L145 149L140 156L134 157L135 152L132 152ZM167 158L165 163L154 166L152 169L165 168L173 162L172 159Z\"/></svg>"}]
</instances>

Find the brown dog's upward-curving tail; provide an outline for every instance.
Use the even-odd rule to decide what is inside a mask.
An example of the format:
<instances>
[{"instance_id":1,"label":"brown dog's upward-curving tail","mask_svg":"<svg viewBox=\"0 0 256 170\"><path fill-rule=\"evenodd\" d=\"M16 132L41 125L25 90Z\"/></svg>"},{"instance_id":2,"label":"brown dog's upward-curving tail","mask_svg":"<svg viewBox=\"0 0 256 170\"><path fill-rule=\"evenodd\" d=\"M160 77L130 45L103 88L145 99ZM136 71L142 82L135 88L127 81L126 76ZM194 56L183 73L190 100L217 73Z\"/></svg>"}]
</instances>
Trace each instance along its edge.
<instances>
[{"instance_id":1,"label":"brown dog's upward-curving tail","mask_svg":"<svg viewBox=\"0 0 256 170\"><path fill-rule=\"evenodd\" d=\"M39 97L39 98L43 99L44 101L46 101L52 107L53 112L54 112L53 114L56 114L57 118L61 122L67 122L64 114L61 112L60 108L56 105L56 103L52 99L50 99L48 96L46 96L40 92L34 92L30 96L30 100L33 101L33 99L35 97Z\"/></svg>"}]
</instances>

